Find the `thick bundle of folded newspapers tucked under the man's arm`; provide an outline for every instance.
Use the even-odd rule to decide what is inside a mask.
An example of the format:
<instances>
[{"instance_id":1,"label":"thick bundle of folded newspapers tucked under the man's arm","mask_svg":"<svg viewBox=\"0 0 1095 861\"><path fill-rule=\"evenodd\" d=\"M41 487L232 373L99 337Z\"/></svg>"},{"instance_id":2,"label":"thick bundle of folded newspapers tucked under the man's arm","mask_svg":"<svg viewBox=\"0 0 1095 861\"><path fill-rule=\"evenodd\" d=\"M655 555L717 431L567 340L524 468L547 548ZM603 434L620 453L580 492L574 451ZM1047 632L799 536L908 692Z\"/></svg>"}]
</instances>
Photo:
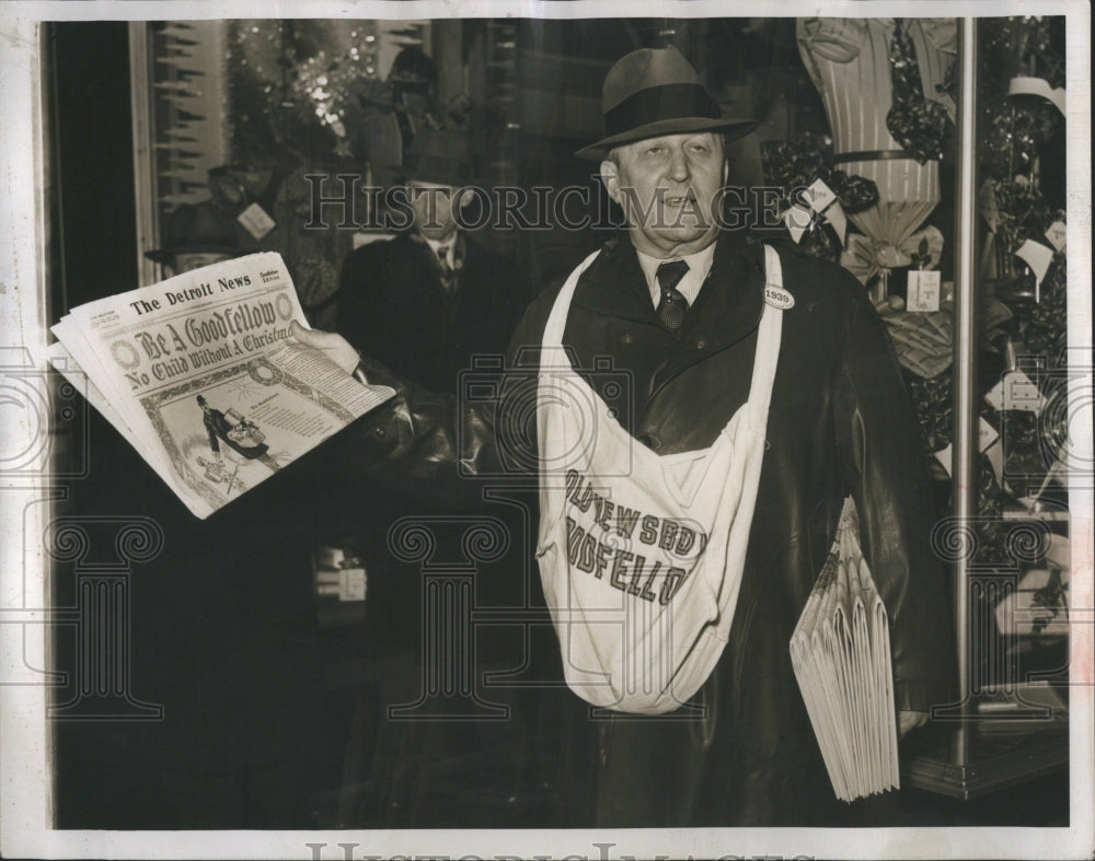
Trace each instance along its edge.
<instances>
[{"instance_id":1,"label":"thick bundle of folded newspapers tucked under the man's arm","mask_svg":"<svg viewBox=\"0 0 1095 861\"><path fill-rule=\"evenodd\" d=\"M889 620L844 501L837 537L791 638L791 663L837 798L898 789Z\"/></svg>"}]
</instances>

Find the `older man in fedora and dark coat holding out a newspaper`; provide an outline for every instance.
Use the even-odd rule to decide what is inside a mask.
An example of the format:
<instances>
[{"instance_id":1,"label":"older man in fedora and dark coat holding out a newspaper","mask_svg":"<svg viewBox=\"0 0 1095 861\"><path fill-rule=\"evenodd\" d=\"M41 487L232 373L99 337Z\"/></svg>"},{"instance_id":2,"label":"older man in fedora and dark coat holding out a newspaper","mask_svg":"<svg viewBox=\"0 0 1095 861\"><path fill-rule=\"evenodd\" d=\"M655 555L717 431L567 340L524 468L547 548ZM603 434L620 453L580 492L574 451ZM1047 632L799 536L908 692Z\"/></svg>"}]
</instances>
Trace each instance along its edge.
<instances>
[{"instance_id":1,"label":"older man in fedora and dark coat holding out a newspaper","mask_svg":"<svg viewBox=\"0 0 1095 861\"><path fill-rule=\"evenodd\" d=\"M653 457L667 470L687 468L722 444L724 430L735 427L731 417L754 403L754 375L768 381L770 396L759 442L740 442L752 438L736 426L735 449L739 442L742 449L759 446L762 455L757 484L752 490L741 486L730 512L746 517L747 543L744 562L733 572L727 566L736 604L712 620L725 632L717 661L688 708L653 718L583 712L595 738L583 760L587 773L558 791L585 798L589 806L567 824L842 824L845 811L854 816L856 808L834 800L788 641L846 496L856 503L864 555L889 615L901 733L954 695L948 591L930 544L934 497L897 361L883 324L848 272L789 243L769 242L775 246L771 255L753 231L721 226L724 142L756 124L723 117L676 49L642 49L616 62L604 81L603 115L607 135L579 154L600 161L601 178L623 209L625 234L606 243L567 284L532 302L511 341L507 391L535 392L542 369L528 348L560 344L581 382L606 404L619 404L619 373L596 370L610 357L612 369L630 381L631 404L615 410L614 422L634 442L634 463L647 469ZM776 268L772 256L782 269L776 290L766 282ZM768 322L773 319L779 322ZM773 325L782 327L780 339L771 337ZM347 371L358 364L335 336L297 336ZM497 474L499 464L537 464L551 451L554 438L537 440L535 421L526 434L496 430L528 427L519 419L532 415L541 432L552 433L560 426L550 421L553 407L543 398L531 409L528 398L506 392L484 404L453 405L368 359L361 368L370 381L401 392L345 435L346 456L362 470L399 475L416 486L448 482L453 492L471 485L474 492L477 485L462 476ZM610 427L616 434L608 421L591 429L588 442ZM566 565L573 550L552 556L551 535L544 537L556 530L543 521L557 511L555 495L562 492L567 490L540 480L545 594L554 572L544 558L549 566ZM609 511L611 502L602 500L597 510ZM658 593L637 582L621 593L611 566L601 573L596 565L583 570L595 572L580 577L600 584L604 595L657 606ZM574 577L570 582L578 583ZM574 636L561 636L564 662L574 661ZM574 761L580 756L572 753L570 759L580 765Z\"/></svg>"}]
</instances>

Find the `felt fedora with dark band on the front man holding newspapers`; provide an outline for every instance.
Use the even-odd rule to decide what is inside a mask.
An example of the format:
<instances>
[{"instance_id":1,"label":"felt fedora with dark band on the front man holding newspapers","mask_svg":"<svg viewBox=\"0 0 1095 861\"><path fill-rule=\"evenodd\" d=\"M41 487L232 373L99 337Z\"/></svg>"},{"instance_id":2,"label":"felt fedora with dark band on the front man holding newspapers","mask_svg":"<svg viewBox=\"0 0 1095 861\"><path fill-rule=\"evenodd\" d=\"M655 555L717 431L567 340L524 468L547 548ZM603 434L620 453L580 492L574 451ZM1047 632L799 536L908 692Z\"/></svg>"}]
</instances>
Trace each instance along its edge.
<instances>
[{"instance_id":1,"label":"felt fedora with dark band on the front man holding newspapers","mask_svg":"<svg viewBox=\"0 0 1095 861\"><path fill-rule=\"evenodd\" d=\"M757 120L724 117L695 69L677 48L642 48L616 60L601 89L604 133L578 150L581 159L603 159L622 143L661 135L721 131L744 138Z\"/></svg>"}]
</instances>

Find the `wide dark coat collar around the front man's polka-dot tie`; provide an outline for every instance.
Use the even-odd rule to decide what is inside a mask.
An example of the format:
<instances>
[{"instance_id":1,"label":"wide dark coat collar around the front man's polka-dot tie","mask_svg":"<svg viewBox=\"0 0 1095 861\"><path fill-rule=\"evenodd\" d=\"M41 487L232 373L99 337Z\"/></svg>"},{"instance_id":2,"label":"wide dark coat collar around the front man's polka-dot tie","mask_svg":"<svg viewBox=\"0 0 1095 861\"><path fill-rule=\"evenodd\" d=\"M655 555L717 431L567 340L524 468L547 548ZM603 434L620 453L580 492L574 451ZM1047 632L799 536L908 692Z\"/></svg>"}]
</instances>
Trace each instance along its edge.
<instances>
[{"instance_id":1,"label":"wide dark coat collar around the front man's polka-dot tie","mask_svg":"<svg viewBox=\"0 0 1095 861\"><path fill-rule=\"evenodd\" d=\"M689 311L681 338L703 339L710 349L734 344L760 323L763 311L763 246L741 232L724 231L711 274ZM660 326L646 277L626 236L606 243L578 283L573 304L604 317Z\"/></svg>"}]
</instances>

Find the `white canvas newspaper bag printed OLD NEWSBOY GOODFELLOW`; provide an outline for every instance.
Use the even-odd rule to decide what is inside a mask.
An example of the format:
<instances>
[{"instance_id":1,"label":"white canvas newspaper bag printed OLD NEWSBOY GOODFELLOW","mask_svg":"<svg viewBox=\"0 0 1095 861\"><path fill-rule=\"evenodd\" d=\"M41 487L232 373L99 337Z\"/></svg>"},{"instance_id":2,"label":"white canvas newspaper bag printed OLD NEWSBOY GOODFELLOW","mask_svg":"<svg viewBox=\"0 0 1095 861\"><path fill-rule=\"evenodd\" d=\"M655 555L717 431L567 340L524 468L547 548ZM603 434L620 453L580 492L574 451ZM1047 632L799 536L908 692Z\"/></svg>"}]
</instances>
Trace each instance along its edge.
<instances>
[{"instance_id":1,"label":"white canvas newspaper bag printed OLD NEWSBOY GOODFELLOW","mask_svg":"<svg viewBox=\"0 0 1095 861\"><path fill-rule=\"evenodd\" d=\"M548 319L538 382L537 556L566 683L596 706L671 711L706 680L726 645L760 481L781 309L793 303L779 256L768 246L764 255L766 304L749 398L703 451L659 456L638 443L562 349L578 277L596 254L570 274Z\"/></svg>"}]
</instances>

